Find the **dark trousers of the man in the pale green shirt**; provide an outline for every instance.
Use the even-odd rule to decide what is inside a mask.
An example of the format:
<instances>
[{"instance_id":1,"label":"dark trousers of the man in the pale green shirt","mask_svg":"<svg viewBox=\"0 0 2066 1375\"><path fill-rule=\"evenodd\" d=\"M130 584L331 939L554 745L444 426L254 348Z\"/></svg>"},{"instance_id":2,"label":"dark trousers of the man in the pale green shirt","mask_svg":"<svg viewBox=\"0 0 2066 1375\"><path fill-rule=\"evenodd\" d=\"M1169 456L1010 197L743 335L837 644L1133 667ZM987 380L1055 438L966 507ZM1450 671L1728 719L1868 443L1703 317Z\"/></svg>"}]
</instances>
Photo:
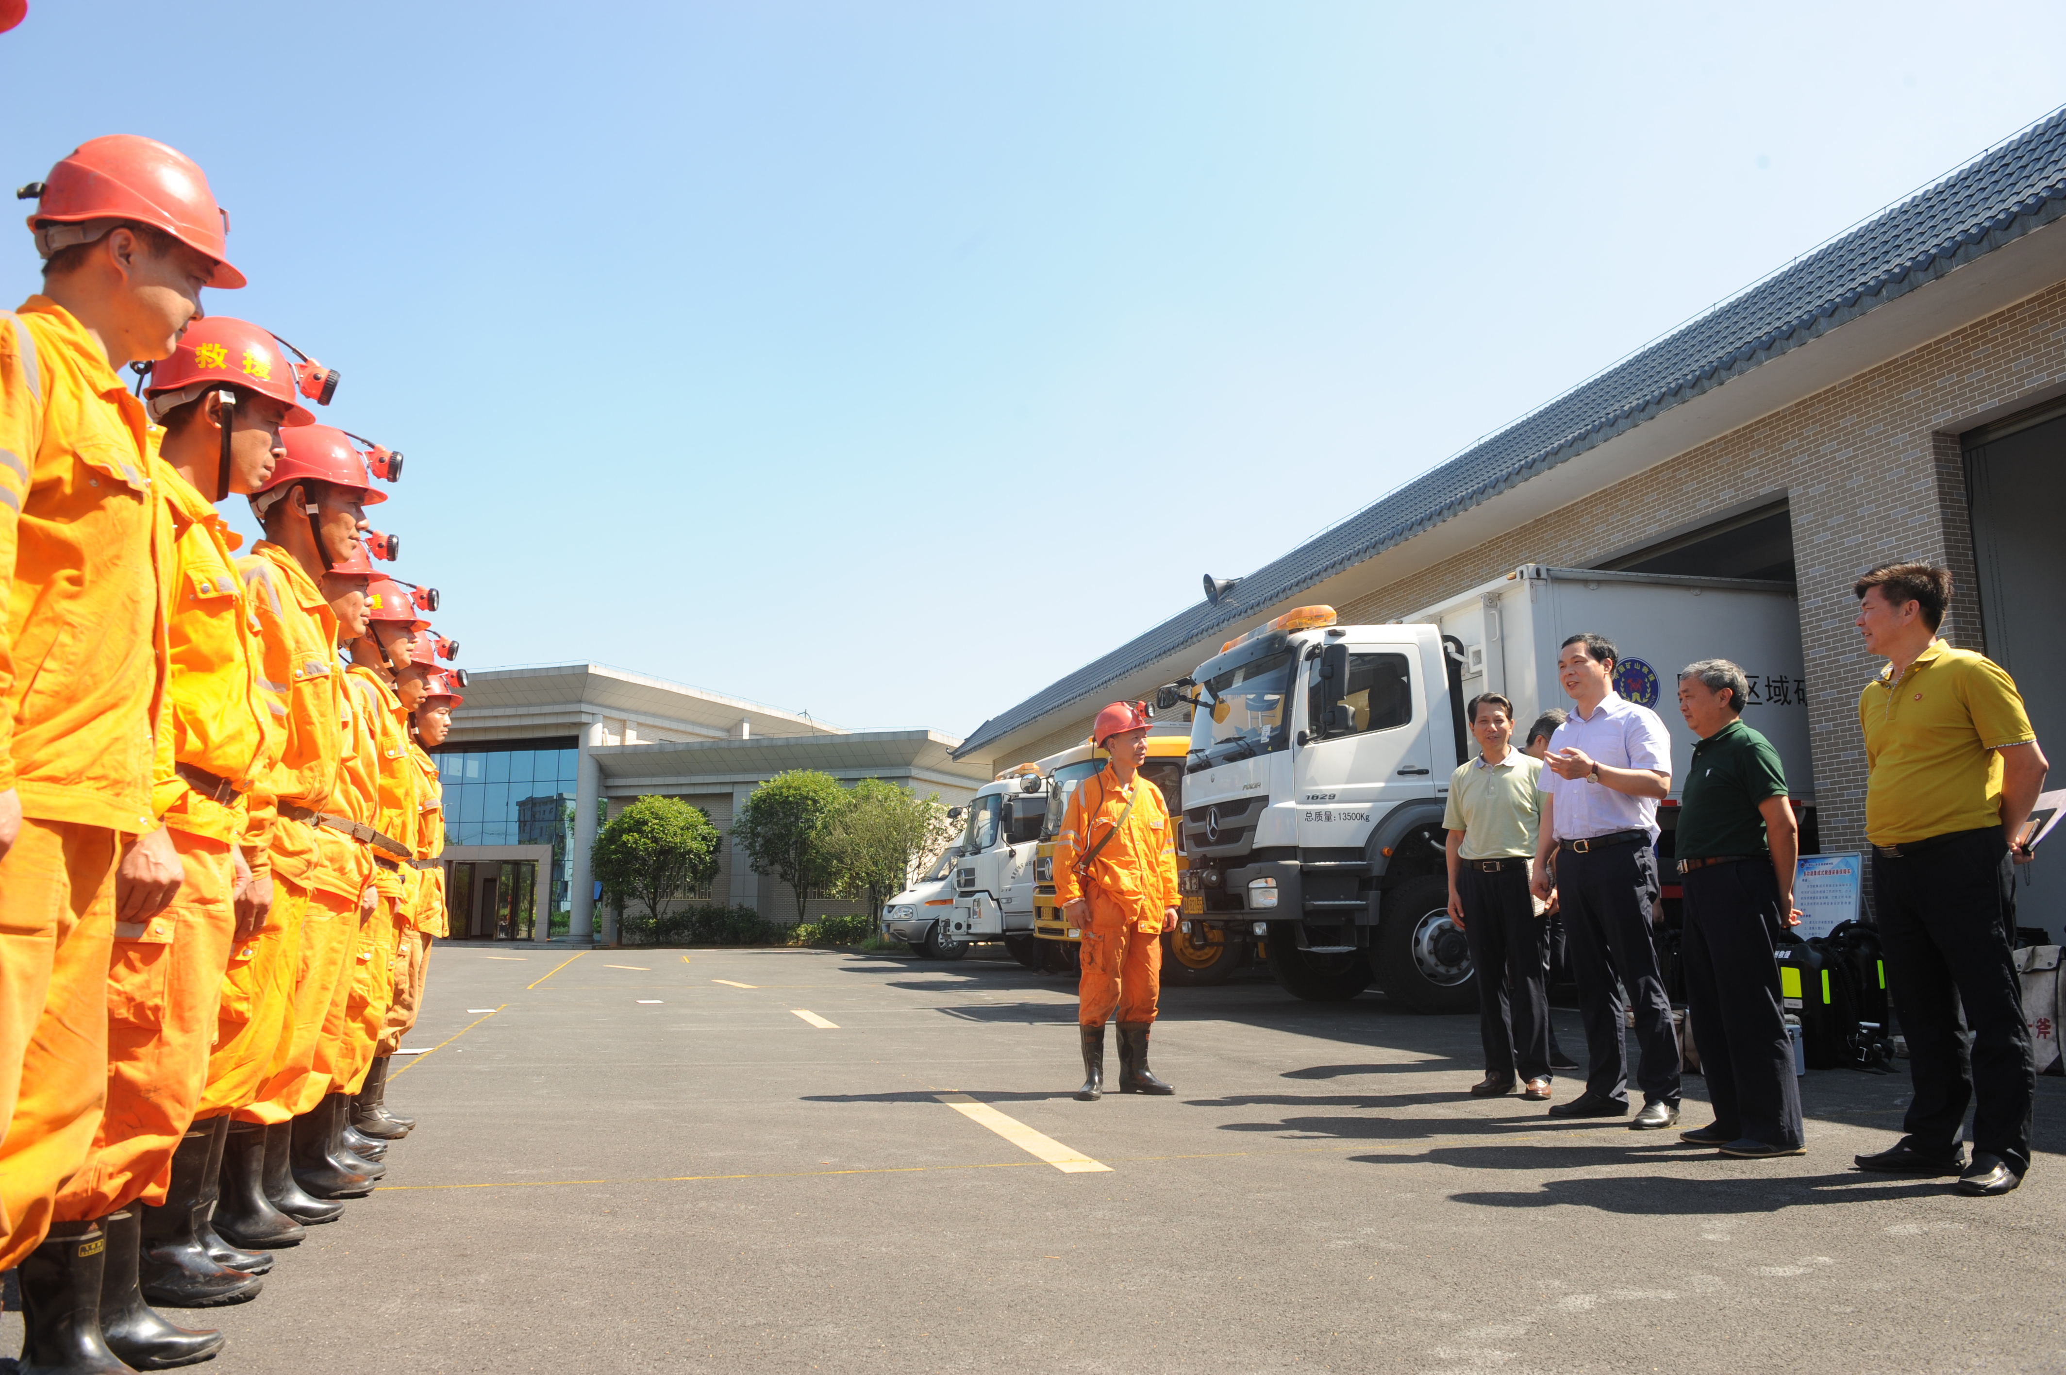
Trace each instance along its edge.
<instances>
[{"instance_id":1,"label":"dark trousers of the man in the pale green shirt","mask_svg":"<svg viewBox=\"0 0 2066 1375\"><path fill-rule=\"evenodd\" d=\"M1529 899L1529 868L1488 875L1463 860L1457 875L1463 937L1477 972L1477 1030L1485 1073L1549 1077L1549 992L1543 986L1545 924Z\"/></svg>"}]
</instances>

